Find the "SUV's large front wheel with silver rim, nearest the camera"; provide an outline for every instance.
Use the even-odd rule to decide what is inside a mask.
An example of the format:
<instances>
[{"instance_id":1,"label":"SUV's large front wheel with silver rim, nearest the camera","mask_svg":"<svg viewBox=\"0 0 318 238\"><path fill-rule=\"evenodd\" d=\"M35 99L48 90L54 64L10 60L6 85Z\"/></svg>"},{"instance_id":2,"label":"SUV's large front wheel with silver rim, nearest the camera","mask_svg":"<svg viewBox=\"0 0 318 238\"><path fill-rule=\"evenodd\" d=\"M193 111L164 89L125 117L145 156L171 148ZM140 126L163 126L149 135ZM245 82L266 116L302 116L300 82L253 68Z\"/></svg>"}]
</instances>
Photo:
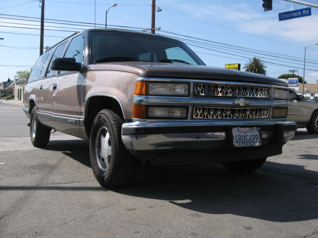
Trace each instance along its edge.
<instances>
[{"instance_id":1,"label":"SUV's large front wheel with silver rim, nearest the camera","mask_svg":"<svg viewBox=\"0 0 318 238\"><path fill-rule=\"evenodd\" d=\"M112 110L95 117L89 140L90 163L95 179L106 188L128 185L137 174L139 163L121 140L123 119Z\"/></svg>"}]
</instances>

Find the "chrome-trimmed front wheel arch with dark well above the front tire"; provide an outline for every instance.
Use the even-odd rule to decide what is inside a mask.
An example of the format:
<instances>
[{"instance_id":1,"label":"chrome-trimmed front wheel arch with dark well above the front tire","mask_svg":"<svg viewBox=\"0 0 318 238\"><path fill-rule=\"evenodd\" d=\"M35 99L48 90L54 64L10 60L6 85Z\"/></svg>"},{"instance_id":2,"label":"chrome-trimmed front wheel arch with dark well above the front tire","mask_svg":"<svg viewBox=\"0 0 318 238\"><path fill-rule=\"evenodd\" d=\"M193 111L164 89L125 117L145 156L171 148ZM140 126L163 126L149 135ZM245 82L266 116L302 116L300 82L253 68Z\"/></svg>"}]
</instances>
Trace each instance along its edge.
<instances>
[{"instance_id":1,"label":"chrome-trimmed front wheel arch with dark well above the front tire","mask_svg":"<svg viewBox=\"0 0 318 238\"><path fill-rule=\"evenodd\" d=\"M108 94L93 94L87 98L84 106L84 125L88 138L96 115L103 109L115 109L124 120L126 119L123 106L118 98Z\"/></svg>"}]
</instances>

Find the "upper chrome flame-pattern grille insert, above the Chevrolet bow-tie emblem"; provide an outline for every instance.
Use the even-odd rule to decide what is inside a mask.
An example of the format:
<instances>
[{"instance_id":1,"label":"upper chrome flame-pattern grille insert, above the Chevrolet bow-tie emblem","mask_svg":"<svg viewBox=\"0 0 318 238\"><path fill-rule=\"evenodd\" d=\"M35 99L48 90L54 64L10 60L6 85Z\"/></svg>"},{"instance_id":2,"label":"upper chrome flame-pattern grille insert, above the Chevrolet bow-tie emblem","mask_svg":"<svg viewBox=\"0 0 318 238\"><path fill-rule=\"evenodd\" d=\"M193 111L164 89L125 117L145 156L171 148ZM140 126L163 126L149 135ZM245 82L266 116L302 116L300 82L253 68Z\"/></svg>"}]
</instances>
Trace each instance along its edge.
<instances>
[{"instance_id":1,"label":"upper chrome flame-pattern grille insert, above the Chevrolet bow-tie emblem","mask_svg":"<svg viewBox=\"0 0 318 238\"><path fill-rule=\"evenodd\" d=\"M268 98L268 88L242 87L228 85L195 84L194 95L197 96L223 96Z\"/></svg>"}]
</instances>

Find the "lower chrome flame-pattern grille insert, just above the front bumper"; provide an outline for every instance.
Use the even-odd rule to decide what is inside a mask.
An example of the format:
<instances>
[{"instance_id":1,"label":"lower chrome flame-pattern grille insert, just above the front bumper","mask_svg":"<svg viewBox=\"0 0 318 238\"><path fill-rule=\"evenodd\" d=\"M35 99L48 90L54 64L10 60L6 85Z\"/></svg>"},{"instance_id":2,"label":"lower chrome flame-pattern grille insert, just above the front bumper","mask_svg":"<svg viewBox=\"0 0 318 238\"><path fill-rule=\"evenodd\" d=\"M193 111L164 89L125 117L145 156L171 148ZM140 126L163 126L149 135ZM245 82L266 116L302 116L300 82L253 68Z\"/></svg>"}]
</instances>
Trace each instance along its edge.
<instances>
[{"instance_id":1,"label":"lower chrome flame-pattern grille insert, just above the front bumper","mask_svg":"<svg viewBox=\"0 0 318 238\"><path fill-rule=\"evenodd\" d=\"M268 108L194 107L194 119L260 119L268 118Z\"/></svg>"}]
</instances>

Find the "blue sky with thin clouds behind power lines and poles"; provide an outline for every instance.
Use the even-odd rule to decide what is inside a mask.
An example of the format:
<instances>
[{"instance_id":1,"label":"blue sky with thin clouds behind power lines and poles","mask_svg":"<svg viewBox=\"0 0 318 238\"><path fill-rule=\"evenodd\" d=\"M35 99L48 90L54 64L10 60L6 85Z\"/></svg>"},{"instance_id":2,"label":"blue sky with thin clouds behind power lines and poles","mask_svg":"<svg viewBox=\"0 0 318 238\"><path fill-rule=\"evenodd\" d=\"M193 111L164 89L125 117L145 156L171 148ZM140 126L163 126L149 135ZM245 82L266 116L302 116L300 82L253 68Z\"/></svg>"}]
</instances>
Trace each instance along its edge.
<instances>
[{"instance_id":1,"label":"blue sky with thin clouds behind power lines and poles","mask_svg":"<svg viewBox=\"0 0 318 238\"><path fill-rule=\"evenodd\" d=\"M304 0L305 1L305 0ZM29 70L39 57L39 0L0 0L0 82L14 79L16 71ZM318 0L306 0L318 4ZM117 3L116 7L110 7ZM209 66L242 67L253 57L278 77L295 70L305 80L318 80L318 8L312 15L279 21L278 13L292 3L273 0L263 11L262 0L156 0L156 34L185 42ZM45 0L44 46L50 47L76 31L104 27L151 28L152 0ZM293 3L293 10L305 8ZM298 71L296 71L298 70Z\"/></svg>"}]
</instances>

